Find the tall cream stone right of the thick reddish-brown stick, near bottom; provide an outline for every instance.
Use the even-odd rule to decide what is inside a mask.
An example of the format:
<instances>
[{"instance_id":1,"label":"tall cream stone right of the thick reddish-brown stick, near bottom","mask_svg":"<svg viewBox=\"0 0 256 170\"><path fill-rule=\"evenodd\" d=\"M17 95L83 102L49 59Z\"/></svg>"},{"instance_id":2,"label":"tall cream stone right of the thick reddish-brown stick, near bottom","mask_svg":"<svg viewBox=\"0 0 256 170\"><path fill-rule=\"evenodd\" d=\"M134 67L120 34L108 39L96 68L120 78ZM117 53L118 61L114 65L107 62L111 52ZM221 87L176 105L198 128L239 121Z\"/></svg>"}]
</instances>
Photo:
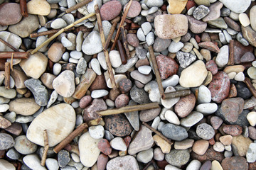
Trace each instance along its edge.
<instances>
[{"instance_id":1,"label":"tall cream stone right of the thick reddish-brown stick, near bottom","mask_svg":"<svg viewBox=\"0 0 256 170\"><path fill-rule=\"evenodd\" d=\"M100 155L97 144L100 139L94 139L89 132L85 132L79 139L78 147L80 151L80 161L84 166L92 167Z\"/></svg>"}]
</instances>

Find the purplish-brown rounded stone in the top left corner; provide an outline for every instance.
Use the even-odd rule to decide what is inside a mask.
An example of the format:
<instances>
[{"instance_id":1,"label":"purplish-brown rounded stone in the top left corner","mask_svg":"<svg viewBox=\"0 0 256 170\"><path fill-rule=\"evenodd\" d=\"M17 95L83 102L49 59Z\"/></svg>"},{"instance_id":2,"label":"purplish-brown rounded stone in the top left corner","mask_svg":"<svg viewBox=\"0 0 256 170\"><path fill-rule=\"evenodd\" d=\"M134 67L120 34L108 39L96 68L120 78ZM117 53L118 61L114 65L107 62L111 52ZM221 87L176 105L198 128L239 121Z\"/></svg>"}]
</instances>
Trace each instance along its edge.
<instances>
[{"instance_id":1,"label":"purplish-brown rounded stone in the top left corner","mask_svg":"<svg viewBox=\"0 0 256 170\"><path fill-rule=\"evenodd\" d=\"M21 21L21 9L16 3L6 3L1 6L0 11L1 26L9 26Z\"/></svg>"}]
</instances>

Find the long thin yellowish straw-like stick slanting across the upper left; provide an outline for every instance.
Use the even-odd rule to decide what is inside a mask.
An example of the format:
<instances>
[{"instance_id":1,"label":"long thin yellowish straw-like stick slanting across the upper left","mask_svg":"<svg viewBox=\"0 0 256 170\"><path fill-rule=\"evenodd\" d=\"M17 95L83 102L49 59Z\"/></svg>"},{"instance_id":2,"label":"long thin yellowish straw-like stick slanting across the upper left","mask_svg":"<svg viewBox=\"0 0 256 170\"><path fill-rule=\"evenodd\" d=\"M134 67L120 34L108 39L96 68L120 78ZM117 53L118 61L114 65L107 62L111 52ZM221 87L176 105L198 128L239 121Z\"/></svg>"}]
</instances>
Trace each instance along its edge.
<instances>
[{"instance_id":1,"label":"long thin yellowish straw-like stick slanting across the upper left","mask_svg":"<svg viewBox=\"0 0 256 170\"><path fill-rule=\"evenodd\" d=\"M47 45L48 42L50 42L51 40L53 40L54 38L58 37L58 35L60 35L61 33L63 33L64 31L68 30L69 28L75 26L76 24L86 20L87 18L90 18L92 16L94 16L95 13L90 13L87 16L84 16L82 18L80 18L78 21L75 21L74 23L71 23L70 25L66 26L65 28L62 28L61 30L59 30L57 33L55 33L53 36L51 36L48 40L46 40L45 42L43 42L41 45L39 45L38 47L36 47L36 49L34 49L33 51L31 51L31 55L33 55L34 53L38 52L38 50L40 50L43 46Z\"/></svg>"}]
</instances>

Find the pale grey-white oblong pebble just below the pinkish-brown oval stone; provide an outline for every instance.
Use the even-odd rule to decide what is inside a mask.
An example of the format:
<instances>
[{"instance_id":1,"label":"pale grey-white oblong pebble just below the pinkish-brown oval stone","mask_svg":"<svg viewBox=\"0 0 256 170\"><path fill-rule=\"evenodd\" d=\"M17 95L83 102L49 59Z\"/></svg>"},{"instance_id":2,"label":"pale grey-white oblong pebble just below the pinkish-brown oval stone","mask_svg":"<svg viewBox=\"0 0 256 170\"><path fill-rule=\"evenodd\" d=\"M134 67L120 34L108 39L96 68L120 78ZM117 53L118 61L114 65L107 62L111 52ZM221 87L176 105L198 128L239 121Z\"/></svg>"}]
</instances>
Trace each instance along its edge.
<instances>
[{"instance_id":1,"label":"pale grey-white oblong pebble just below the pinkish-brown oval stone","mask_svg":"<svg viewBox=\"0 0 256 170\"><path fill-rule=\"evenodd\" d=\"M203 114L200 112L193 111L186 118L181 119L181 125L183 127L192 127L196 125L200 120L203 119Z\"/></svg>"}]
</instances>

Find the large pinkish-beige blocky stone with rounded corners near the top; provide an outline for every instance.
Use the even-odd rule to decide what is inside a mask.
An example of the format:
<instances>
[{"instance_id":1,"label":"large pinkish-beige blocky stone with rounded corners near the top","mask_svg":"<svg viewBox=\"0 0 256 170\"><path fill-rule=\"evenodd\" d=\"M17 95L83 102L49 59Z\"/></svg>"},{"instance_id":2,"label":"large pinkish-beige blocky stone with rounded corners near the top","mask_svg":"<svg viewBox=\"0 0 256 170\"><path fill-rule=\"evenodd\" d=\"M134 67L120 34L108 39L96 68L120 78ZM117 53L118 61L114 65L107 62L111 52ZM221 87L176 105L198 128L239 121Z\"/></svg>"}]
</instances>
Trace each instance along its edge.
<instances>
[{"instance_id":1,"label":"large pinkish-beige blocky stone with rounded corners near the top","mask_svg":"<svg viewBox=\"0 0 256 170\"><path fill-rule=\"evenodd\" d=\"M172 39L181 37L188 32L188 18L182 14L158 15L154 19L154 27L159 38Z\"/></svg>"}]
</instances>

